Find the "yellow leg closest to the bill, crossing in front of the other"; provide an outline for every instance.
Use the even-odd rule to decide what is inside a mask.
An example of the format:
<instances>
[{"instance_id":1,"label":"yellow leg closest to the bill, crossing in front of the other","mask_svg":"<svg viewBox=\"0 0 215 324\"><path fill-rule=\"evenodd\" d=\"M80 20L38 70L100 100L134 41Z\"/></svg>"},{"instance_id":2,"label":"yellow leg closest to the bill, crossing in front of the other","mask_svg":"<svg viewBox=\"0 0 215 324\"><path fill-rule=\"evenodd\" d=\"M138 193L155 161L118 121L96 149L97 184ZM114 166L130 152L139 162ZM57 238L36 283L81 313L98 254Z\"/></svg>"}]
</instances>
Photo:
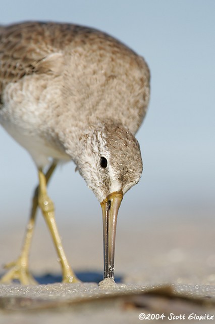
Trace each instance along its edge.
<instances>
[{"instance_id":1,"label":"yellow leg closest to the bill, crossing in front of the other","mask_svg":"<svg viewBox=\"0 0 215 324\"><path fill-rule=\"evenodd\" d=\"M42 170L38 170L39 176L39 194L38 194L38 205L41 208L44 219L48 225L49 231L51 233L53 242L55 244L59 260L62 266L63 272L63 282L78 282L79 280L72 271L69 262L66 258L61 237L58 232L56 220L55 220L55 209L52 200L47 195L46 190L46 179Z\"/></svg>"}]
</instances>

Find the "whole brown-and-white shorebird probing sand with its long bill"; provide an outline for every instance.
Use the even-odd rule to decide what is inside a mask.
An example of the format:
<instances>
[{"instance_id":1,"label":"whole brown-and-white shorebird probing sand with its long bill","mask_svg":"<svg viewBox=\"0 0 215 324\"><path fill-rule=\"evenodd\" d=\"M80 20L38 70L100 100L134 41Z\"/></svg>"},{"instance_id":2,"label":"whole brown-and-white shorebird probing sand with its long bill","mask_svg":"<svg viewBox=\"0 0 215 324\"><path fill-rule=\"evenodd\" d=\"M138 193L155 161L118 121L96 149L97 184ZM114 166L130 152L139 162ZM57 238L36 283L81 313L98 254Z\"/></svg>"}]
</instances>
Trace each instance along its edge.
<instances>
[{"instance_id":1,"label":"whole brown-and-white shorebird probing sand with its long bill","mask_svg":"<svg viewBox=\"0 0 215 324\"><path fill-rule=\"evenodd\" d=\"M35 283L28 256L37 207L55 244L63 282L78 280L46 189L57 164L70 160L101 205L104 278L114 278L118 210L142 174L134 135L149 101L146 62L112 36L84 26L1 26L0 99L0 123L30 153L39 178L21 254L6 265L1 281Z\"/></svg>"}]
</instances>

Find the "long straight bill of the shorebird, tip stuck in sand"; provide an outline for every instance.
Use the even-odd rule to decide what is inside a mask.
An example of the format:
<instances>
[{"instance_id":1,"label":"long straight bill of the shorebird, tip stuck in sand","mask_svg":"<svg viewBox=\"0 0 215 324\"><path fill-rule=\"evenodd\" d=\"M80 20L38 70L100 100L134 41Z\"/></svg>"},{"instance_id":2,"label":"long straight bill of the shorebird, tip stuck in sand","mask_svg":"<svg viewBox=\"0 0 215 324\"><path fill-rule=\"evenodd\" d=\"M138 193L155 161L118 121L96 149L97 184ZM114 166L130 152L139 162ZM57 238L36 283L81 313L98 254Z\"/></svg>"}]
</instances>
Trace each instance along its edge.
<instances>
[{"instance_id":1,"label":"long straight bill of the shorebird, tip stuck in sand","mask_svg":"<svg viewBox=\"0 0 215 324\"><path fill-rule=\"evenodd\" d=\"M117 215L123 199L123 191L109 194L101 202L104 241L104 278L114 279L114 253L117 228Z\"/></svg>"}]
</instances>

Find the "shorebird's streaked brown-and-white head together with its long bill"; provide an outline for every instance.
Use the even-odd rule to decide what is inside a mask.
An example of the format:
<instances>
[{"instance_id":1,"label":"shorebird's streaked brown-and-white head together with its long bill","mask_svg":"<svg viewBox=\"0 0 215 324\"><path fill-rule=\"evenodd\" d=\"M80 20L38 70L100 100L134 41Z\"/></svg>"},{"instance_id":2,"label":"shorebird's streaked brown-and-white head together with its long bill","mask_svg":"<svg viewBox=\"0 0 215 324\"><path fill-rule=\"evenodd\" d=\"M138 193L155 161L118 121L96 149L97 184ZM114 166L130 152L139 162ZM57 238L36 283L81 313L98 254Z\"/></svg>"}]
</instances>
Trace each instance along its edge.
<instances>
[{"instance_id":1,"label":"shorebird's streaked brown-and-white head together with its long bill","mask_svg":"<svg viewBox=\"0 0 215 324\"><path fill-rule=\"evenodd\" d=\"M113 278L118 210L123 195L140 180L140 147L131 132L114 124L92 126L79 147L78 170L102 207L104 277Z\"/></svg>"}]
</instances>

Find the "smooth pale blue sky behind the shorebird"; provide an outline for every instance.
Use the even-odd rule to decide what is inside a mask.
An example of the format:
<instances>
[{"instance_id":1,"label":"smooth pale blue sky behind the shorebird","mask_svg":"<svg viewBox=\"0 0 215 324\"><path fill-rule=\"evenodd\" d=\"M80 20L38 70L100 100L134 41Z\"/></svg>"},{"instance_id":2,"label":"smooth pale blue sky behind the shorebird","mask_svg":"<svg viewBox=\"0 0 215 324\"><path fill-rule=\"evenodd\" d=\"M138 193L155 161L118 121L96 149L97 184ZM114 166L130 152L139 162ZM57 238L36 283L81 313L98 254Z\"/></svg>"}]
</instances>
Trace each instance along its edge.
<instances>
[{"instance_id":1,"label":"smooth pale blue sky behind the shorebird","mask_svg":"<svg viewBox=\"0 0 215 324\"><path fill-rule=\"evenodd\" d=\"M214 12L213 0L8 0L1 4L2 24L51 20L92 26L119 38L148 62L151 100L137 134L144 171L140 183L124 197L122 217L199 219L214 214ZM2 128L0 146L1 214L7 222L19 213L25 222L37 183L36 169L28 153ZM99 203L74 170L72 163L59 168L50 183L57 218L83 220L85 214L93 221L101 218Z\"/></svg>"}]
</instances>

